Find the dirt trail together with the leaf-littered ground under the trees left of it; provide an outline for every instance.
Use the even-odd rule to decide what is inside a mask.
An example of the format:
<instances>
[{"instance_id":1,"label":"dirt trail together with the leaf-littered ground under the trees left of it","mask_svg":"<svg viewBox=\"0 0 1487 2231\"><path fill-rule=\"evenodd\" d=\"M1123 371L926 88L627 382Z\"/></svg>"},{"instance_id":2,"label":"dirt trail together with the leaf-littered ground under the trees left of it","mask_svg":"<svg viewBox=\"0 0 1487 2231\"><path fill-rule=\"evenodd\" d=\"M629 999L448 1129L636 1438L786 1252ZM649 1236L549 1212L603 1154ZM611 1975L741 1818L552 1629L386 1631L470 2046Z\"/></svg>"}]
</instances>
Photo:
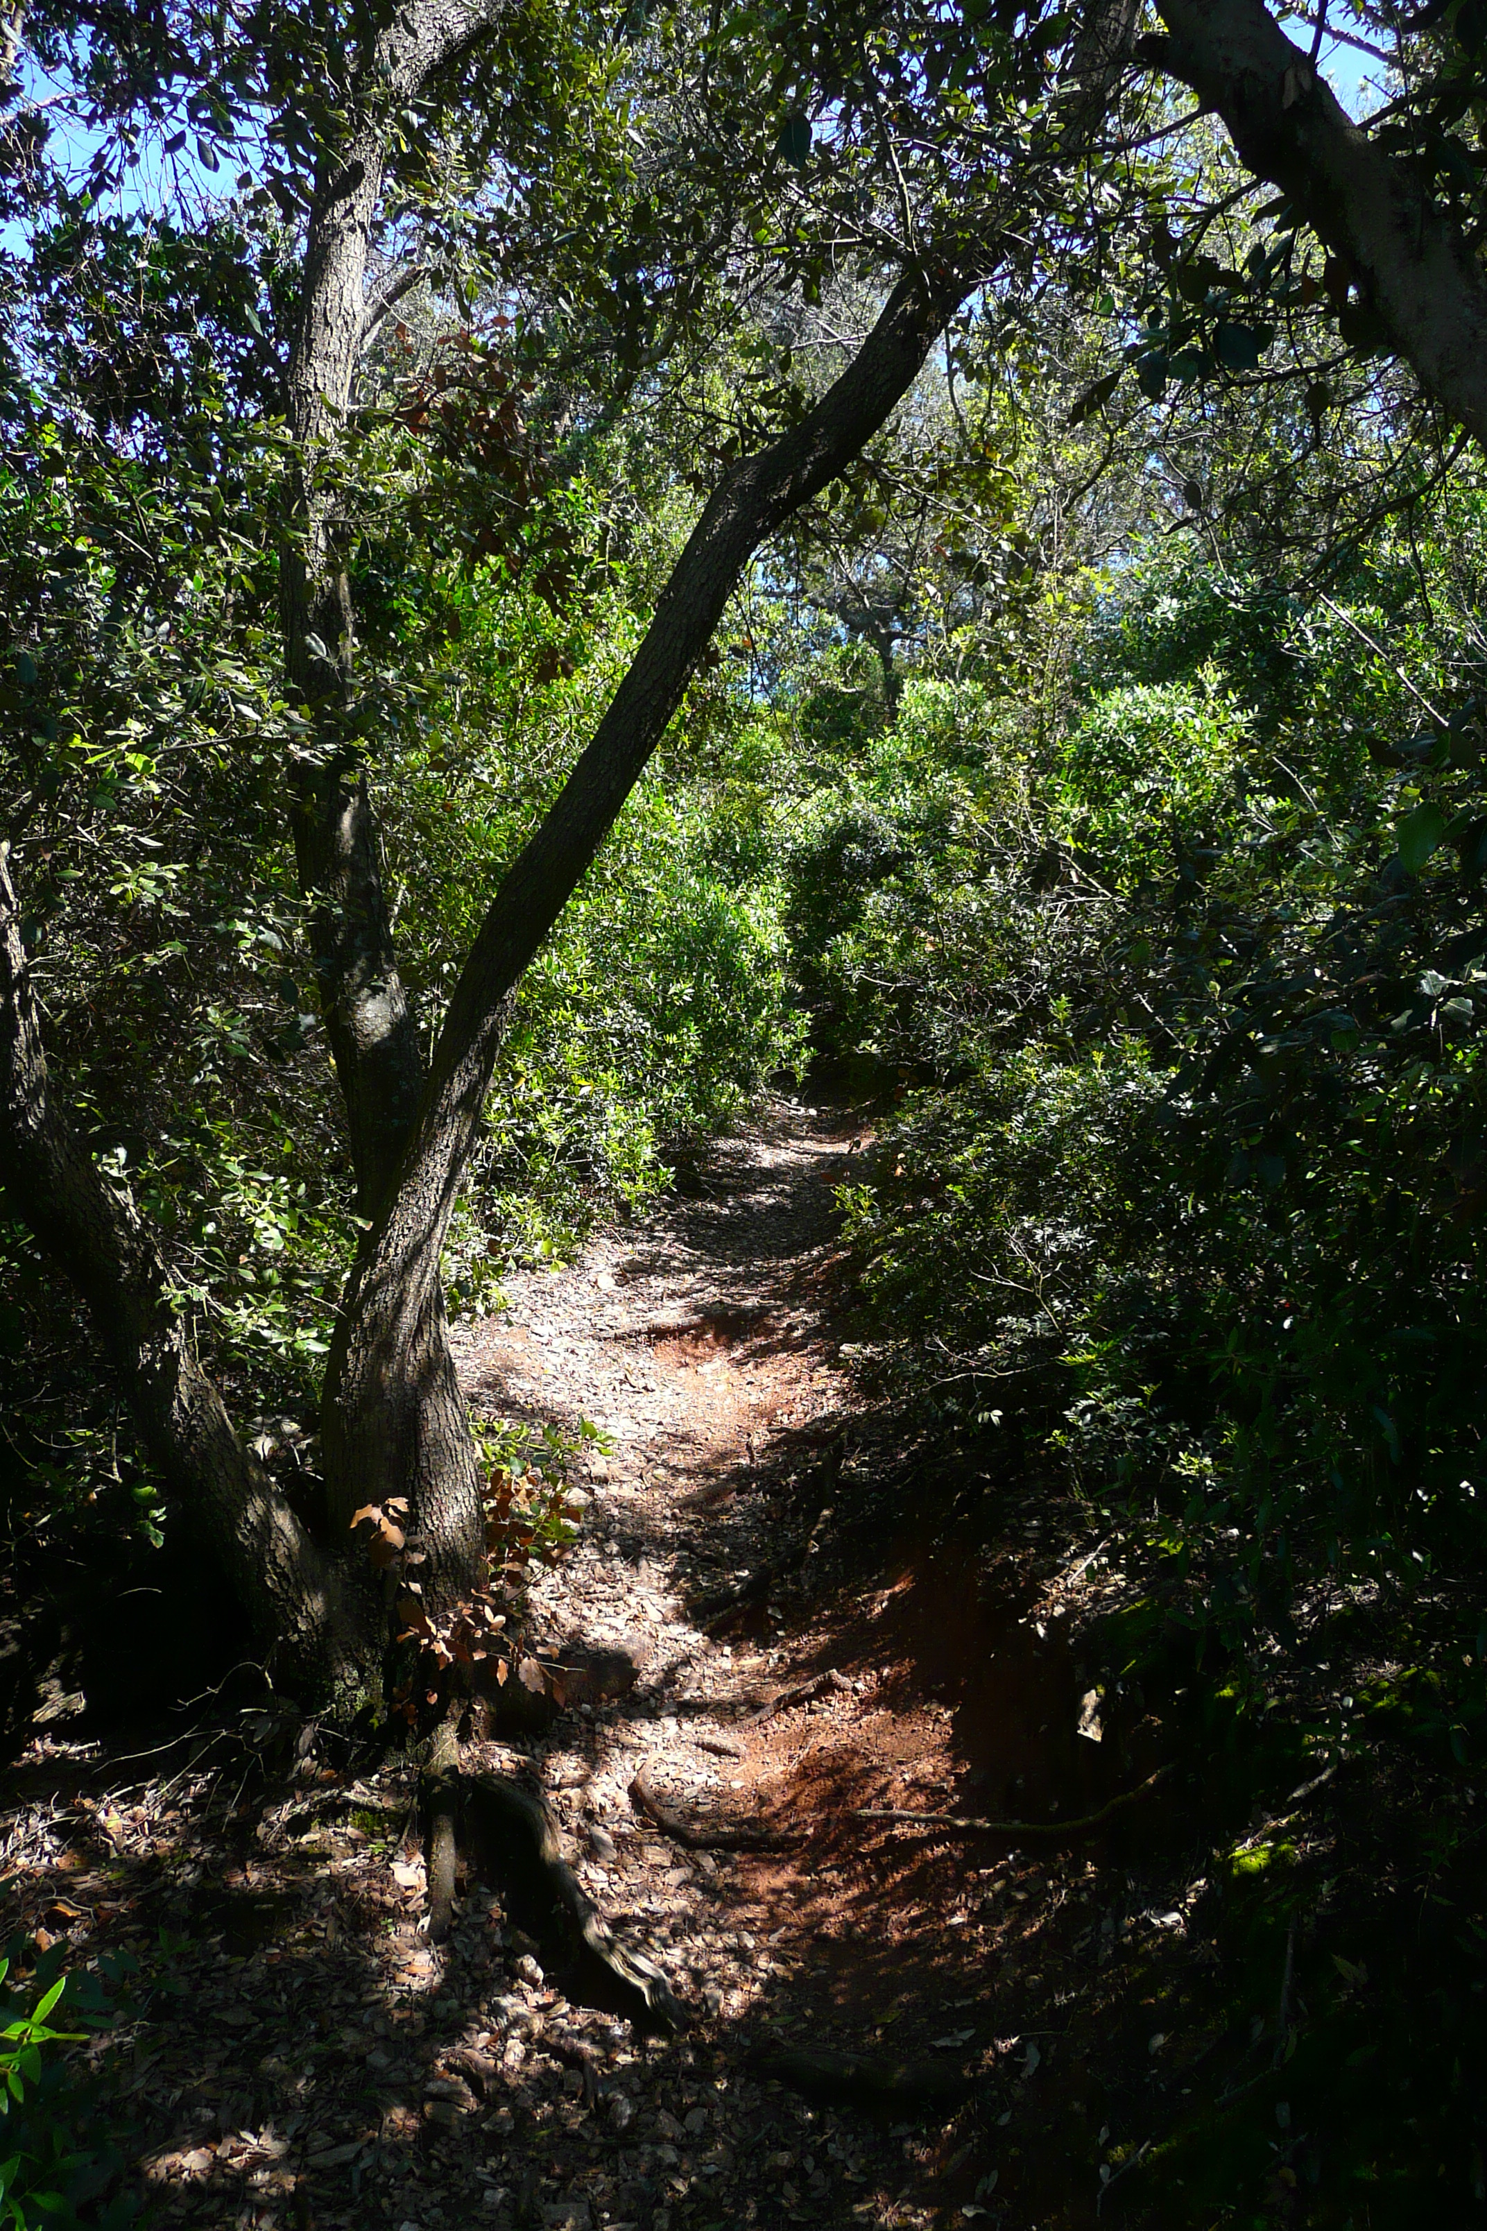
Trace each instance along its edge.
<instances>
[{"instance_id":1,"label":"dirt trail together with the leaf-littered ground under the trees left of it","mask_svg":"<svg viewBox=\"0 0 1487 2231\"><path fill-rule=\"evenodd\" d=\"M927 1843L858 1807L1068 1816L1148 1760L1139 1731L1101 1751L1077 1729L1059 1615L1097 1586L1090 1557L1043 1546L1014 1501L992 1559L956 1544L945 1495L894 1486L885 1423L847 1408L834 1187L865 1140L852 1109L778 1102L658 1216L513 1278L508 1310L457 1334L477 1408L591 1417L613 1439L580 1542L535 1584L540 1655L582 1646L606 1680L466 1765L542 1780L591 1899L667 1970L682 2035L580 2003L499 1863L470 1867L430 1945L417 1776L281 1725L272 1700L134 1760L38 1733L0 1879L36 1943L123 1950L149 1979L123 2097L163 2220L1095 2220L1110 2133L1070 2037L1119 1957L1095 1870L1005 1838ZM890 1510L912 1501L901 1548L892 1524L852 1533L885 1479ZM671 1829L638 1805L638 1769ZM791 1845L698 1847L678 1820ZM1115 2030L1150 2017L1106 2021L1146 2084L1144 2046ZM1068 2066L1050 2079L1054 2032ZM814 2099L771 2075L823 2048L876 2057L856 2099L852 2068Z\"/></svg>"}]
</instances>

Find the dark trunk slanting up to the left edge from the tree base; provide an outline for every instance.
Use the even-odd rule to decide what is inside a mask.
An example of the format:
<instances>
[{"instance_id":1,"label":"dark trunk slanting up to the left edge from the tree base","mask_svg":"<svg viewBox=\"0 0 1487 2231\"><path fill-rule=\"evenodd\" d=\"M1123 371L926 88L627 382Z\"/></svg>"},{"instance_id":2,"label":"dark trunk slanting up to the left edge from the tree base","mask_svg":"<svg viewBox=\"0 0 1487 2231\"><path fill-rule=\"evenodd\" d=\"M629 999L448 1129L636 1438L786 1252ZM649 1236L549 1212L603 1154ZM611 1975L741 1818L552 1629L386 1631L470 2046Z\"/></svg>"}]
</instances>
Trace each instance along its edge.
<instances>
[{"instance_id":1,"label":"dark trunk slanting up to the left edge from the tree base","mask_svg":"<svg viewBox=\"0 0 1487 2231\"><path fill-rule=\"evenodd\" d=\"M274 1678L337 1696L375 1678L379 1606L352 1600L232 1428L138 1209L58 1109L7 850L0 848L0 1138L4 1191L82 1296L140 1439L187 1524L241 1593Z\"/></svg>"}]
</instances>

